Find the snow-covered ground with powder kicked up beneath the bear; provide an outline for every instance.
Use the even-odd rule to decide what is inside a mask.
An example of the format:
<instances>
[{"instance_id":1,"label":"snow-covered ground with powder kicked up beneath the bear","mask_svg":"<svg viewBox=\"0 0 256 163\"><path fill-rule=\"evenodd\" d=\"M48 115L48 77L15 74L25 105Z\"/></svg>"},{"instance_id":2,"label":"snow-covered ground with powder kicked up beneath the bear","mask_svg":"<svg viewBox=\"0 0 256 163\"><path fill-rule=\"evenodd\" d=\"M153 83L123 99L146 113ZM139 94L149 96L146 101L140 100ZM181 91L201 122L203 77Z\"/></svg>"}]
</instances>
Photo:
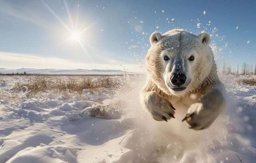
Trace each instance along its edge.
<instances>
[{"instance_id":1,"label":"snow-covered ground with powder kicked up beneath the bear","mask_svg":"<svg viewBox=\"0 0 256 163\"><path fill-rule=\"evenodd\" d=\"M202 131L181 122L182 106L168 122L151 119L139 102L143 76L115 77L129 83L119 90L84 90L73 96L52 92L27 96L26 89L12 89L28 78L33 77L0 77L5 81L0 80L0 163L256 160L256 88L235 82L242 77L223 77L229 107ZM106 113L89 117L92 108Z\"/></svg>"}]
</instances>

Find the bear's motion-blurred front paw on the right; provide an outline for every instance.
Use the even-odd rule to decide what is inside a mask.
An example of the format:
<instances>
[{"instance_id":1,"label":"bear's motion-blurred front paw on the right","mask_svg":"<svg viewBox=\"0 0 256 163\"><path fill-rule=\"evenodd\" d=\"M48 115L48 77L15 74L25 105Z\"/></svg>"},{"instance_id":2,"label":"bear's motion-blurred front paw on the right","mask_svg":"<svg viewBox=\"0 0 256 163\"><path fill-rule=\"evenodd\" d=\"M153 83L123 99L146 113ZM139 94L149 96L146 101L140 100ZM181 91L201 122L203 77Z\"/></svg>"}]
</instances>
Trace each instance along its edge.
<instances>
[{"instance_id":1,"label":"bear's motion-blurred front paw on the right","mask_svg":"<svg viewBox=\"0 0 256 163\"><path fill-rule=\"evenodd\" d=\"M202 103L193 103L182 120L189 124L188 128L202 130L209 127L217 116L211 109L205 109Z\"/></svg>"}]
</instances>

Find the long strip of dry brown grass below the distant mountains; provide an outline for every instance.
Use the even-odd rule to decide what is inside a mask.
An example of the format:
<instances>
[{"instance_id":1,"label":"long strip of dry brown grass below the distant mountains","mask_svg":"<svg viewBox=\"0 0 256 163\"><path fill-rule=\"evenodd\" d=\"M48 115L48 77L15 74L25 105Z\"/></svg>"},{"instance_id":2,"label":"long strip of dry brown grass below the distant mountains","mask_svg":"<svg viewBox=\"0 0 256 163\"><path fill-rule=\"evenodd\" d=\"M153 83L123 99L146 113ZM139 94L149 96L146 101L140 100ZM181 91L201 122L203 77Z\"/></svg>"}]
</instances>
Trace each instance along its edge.
<instances>
[{"instance_id":1,"label":"long strip of dry brown grass below the distant mountains","mask_svg":"<svg viewBox=\"0 0 256 163\"><path fill-rule=\"evenodd\" d=\"M51 80L45 78L38 78L30 80L28 83L16 83L13 90L28 91L29 95L36 94L38 92L46 91L75 91L82 93L83 89L97 89L97 88L118 88L121 82L119 80L113 80L108 77L102 77L96 80L92 78L84 78L82 80L68 79L68 80Z\"/></svg>"}]
</instances>

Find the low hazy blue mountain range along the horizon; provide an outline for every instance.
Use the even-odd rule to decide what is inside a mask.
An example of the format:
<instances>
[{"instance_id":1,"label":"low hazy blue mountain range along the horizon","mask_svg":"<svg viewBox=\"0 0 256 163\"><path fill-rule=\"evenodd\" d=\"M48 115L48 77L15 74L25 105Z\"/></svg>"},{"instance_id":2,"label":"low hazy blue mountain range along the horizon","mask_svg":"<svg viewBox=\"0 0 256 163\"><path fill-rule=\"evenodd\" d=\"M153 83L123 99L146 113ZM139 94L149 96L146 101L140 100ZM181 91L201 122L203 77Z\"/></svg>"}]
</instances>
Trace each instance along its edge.
<instances>
[{"instance_id":1,"label":"low hazy blue mountain range along the horizon","mask_svg":"<svg viewBox=\"0 0 256 163\"><path fill-rule=\"evenodd\" d=\"M6 73L24 73L27 74L123 74L124 71L113 69L35 69L35 68L20 68L6 69L0 68L1 74Z\"/></svg>"}]
</instances>

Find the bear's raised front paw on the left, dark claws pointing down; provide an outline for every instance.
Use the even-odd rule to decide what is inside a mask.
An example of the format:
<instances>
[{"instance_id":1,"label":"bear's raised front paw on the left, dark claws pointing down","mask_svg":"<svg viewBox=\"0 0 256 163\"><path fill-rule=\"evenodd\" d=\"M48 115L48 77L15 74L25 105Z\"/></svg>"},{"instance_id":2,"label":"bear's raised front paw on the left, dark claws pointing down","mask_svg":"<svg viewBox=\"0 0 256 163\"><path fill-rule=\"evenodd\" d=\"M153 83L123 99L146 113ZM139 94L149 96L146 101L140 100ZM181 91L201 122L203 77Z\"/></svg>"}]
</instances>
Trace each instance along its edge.
<instances>
[{"instance_id":1,"label":"bear's raised front paw on the left, dark claws pointing down","mask_svg":"<svg viewBox=\"0 0 256 163\"><path fill-rule=\"evenodd\" d=\"M149 111L151 117L157 121L175 118L175 108L172 104L163 96L159 95L155 91L148 92L145 97L145 108Z\"/></svg>"}]
</instances>

